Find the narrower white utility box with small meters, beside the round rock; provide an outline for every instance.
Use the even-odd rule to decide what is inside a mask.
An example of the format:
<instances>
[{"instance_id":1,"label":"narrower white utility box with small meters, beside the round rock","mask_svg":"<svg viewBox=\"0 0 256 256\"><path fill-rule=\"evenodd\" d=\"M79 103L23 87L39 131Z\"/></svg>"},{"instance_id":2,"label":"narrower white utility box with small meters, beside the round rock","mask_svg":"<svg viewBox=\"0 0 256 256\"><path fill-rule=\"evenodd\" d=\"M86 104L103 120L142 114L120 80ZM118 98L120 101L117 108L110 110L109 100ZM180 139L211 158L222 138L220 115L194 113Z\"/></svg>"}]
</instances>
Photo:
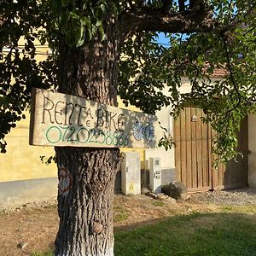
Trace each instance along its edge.
<instances>
[{"instance_id":1,"label":"narrower white utility box with small meters, beside the round rock","mask_svg":"<svg viewBox=\"0 0 256 256\"><path fill-rule=\"evenodd\" d=\"M155 194L161 193L161 159L160 157L149 158L149 187Z\"/></svg>"}]
</instances>

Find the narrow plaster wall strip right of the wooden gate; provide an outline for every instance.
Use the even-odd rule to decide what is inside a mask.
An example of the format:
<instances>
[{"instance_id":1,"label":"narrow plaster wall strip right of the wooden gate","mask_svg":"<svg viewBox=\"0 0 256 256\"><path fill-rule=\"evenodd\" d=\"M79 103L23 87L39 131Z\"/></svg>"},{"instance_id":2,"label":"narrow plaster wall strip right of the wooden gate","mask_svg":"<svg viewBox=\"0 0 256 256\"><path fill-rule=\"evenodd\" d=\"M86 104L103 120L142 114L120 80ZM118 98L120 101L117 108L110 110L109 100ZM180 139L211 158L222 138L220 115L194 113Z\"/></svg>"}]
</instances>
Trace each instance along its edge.
<instances>
[{"instance_id":1,"label":"narrow plaster wall strip right of the wooden gate","mask_svg":"<svg viewBox=\"0 0 256 256\"><path fill-rule=\"evenodd\" d=\"M248 185L256 187L256 114L248 114Z\"/></svg>"}]
</instances>

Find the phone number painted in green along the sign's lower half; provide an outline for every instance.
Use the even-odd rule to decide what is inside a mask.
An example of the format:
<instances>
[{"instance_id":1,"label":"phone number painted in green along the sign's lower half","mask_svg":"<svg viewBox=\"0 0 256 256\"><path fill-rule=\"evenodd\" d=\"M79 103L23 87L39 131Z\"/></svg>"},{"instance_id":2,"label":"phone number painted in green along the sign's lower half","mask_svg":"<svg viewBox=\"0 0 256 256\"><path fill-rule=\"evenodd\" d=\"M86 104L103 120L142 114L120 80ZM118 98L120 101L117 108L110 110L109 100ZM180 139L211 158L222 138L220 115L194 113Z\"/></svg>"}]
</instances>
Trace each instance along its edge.
<instances>
[{"instance_id":1,"label":"phone number painted in green along the sign's lower half","mask_svg":"<svg viewBox=\"0 0 256 256\"><path fill-rule=\"evenodd\" d=\"M74 126L50 126L45 132L49 143L100 143L108 146L127 146L129 144L128 134L117 131L102 131L99 129L88 130L85 127Z\"/></svg>"}]
</instances>

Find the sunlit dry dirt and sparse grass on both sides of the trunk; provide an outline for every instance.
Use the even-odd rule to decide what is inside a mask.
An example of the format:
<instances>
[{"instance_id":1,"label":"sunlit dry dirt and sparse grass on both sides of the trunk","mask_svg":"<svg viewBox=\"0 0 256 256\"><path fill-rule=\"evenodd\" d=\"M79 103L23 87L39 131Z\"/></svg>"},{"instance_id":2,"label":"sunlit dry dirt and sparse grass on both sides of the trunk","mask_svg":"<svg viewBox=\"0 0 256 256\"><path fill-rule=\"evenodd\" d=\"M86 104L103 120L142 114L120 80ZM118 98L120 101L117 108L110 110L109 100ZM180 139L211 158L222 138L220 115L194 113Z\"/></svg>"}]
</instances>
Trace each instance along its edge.
<instances>
[{"instance_id":1,"label":"sunlit dry dirt and sparse grass on both sides of the trunk","mask_svg":"<svg viewBox=\"0 0 256 256\"><path fill-rule=\"evenodd\" d=\"M216 199L216 195L214 196ZM178 201L177 204L172 204L168 201L156 201L146 195L115 195L114 229L125 230L154 223L163 218L187 216L197 212L240 212L248 215L248 218L255 218L253 215L256 212L255 205L220 205L201 201L199 197L199 195L191 195L189 201ZM198 225L203 224L207 229L211 229L215 221L216 219L212 218L200 218ZM12 212L1 212L0 226L0 255L32 255L33 252L49 251L54 247L58 230L56 205L43 207L26 205ZM26 246L17 247L20 242L26 243Z\"/></svg>"}]
</instances>

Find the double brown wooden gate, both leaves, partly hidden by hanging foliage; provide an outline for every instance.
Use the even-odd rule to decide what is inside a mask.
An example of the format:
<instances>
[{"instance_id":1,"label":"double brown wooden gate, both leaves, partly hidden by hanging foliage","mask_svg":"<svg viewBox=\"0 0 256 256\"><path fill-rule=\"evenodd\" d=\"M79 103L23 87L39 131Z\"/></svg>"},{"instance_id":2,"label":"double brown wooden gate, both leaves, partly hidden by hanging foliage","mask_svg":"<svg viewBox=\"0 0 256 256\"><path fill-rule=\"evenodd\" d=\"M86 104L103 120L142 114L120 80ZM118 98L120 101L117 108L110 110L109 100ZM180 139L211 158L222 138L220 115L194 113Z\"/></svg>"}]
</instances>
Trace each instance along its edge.
<instances>
[{"instance_id":1,"label":"double brown wooden gate, both leaves, partly hidden by hanging foliage","mask_svg":"<svg viewBox=\"0 0 256 256\"><path fill-rule=\"evenodd\" d=\"M204 116L201 108L185 108L174 121L177 180L190 192L247 186L247 119L241 124L238 134L238 150L243 156L214 169L211 154L214 131L202 122Z\"/></svg>"}]
</instances>

